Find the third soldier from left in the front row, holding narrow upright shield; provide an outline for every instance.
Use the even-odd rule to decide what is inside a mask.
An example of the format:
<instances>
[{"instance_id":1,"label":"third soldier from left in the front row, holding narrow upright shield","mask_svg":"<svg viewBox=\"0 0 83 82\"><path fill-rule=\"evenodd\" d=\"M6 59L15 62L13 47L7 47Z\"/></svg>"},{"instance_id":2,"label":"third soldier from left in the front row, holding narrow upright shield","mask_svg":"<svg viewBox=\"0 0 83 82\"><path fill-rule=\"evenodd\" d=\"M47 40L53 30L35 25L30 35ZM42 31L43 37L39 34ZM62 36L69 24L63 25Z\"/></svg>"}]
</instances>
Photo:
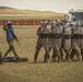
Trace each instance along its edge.
<instances>
[{"instance_id":1,"label":"third soldier from left in the front row, holding narrow upright shield","mask_svg":"<svg viewBox=\"0 0 83 82\"><path fill-rule=\"evenodd\" d=\"M70 23L67 23L63 28L63 50L66 52L66 60L70 60L71 55L71 26Z\"/></svg>"}]
</instances>

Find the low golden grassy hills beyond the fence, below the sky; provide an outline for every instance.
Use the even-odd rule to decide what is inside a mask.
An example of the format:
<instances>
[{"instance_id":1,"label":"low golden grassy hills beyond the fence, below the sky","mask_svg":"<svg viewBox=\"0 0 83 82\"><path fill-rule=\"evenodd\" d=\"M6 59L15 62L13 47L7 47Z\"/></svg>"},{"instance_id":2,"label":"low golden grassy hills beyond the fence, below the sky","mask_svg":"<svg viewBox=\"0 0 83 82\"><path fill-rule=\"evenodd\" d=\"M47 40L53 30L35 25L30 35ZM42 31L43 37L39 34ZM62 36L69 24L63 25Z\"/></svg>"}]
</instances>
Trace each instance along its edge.
<instances>
[{"instance_id":1,"label":"low golden grassy hills beyond the fence, below the sky","mask_svg":"<svg viewBox=\"0 0 83 82\"><path fill-rule=\"evenodd\" d=\"M0 7L0 17L27 17L27 19L63 19L66 13L57 13L51 11L33 11L33 10L20 10L9 7ZM14 16L14 17L13 17Z\"/></svg>"}]
</instances>

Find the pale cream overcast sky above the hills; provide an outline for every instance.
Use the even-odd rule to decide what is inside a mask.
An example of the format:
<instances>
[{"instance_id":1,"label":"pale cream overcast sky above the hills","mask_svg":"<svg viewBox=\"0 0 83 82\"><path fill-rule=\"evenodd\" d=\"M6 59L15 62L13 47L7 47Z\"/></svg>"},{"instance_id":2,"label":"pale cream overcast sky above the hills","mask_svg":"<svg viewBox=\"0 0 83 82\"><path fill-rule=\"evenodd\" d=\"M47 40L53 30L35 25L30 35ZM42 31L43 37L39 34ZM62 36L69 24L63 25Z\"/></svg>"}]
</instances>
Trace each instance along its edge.
<instances>
[{"instance_id":1,"label":"pale cream overcast sky above the hills","mask_svg":"<svg viewBox=\"0 0 83 82\"><path fill-rule=\"evenodd\" d=\"M0 7L68 13L71 9L83 10L83 0L0 0Z\"/></svg>"}]
</instances>

